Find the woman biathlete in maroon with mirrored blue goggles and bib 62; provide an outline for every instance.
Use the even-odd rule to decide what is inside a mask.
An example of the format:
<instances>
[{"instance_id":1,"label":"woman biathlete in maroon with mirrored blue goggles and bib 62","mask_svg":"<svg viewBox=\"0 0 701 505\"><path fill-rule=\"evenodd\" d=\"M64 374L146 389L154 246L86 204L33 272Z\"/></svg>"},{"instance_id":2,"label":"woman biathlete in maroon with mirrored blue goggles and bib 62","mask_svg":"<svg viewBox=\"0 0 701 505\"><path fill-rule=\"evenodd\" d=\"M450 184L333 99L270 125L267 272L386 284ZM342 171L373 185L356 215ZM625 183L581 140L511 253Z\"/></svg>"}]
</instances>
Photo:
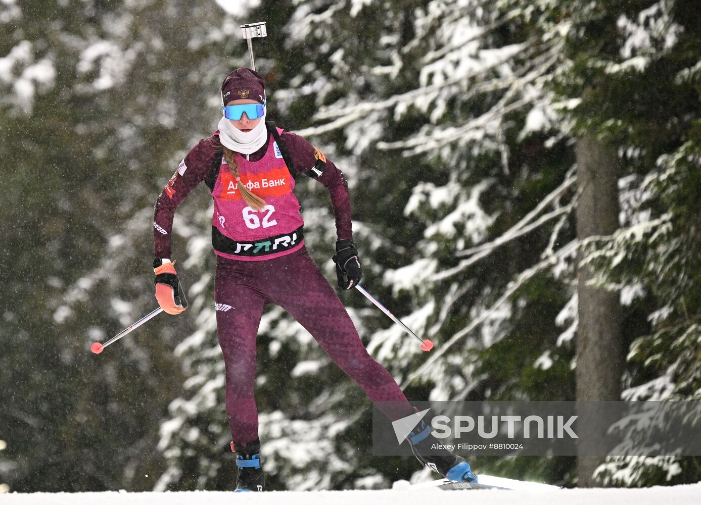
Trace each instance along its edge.
<instances>
[{"instance_id":1,"label":"woman biathlete in maroon with mirrored blue goggles and bib 62","mask_svg":"<svg viewBox=\"0 0 701 505\"><path fill-rule=\"evenodd\" d=\"M158 197L154 216L156 298L165 312L179 314L187 301L170 261L173 215L200 182L215 201L215 312L237 491L264 490L254 383L256 335L266 303L280 305L299 321L372 401L402 402L395 411L380 407L390 420L414 413L392 375L365 350L346 308L304 246L304 221L292 192L299 173L320 181L331 195L339 287L351 289L360 282L348 183L308 141L266 123L264 86L262 76L250 69L226 76L219 130L187 153ZM430 426L419 424L407 440L419 461L434 471L451 480L477 480L465 459L431 450L438 441Z\"/></svg>"}]
</instances>

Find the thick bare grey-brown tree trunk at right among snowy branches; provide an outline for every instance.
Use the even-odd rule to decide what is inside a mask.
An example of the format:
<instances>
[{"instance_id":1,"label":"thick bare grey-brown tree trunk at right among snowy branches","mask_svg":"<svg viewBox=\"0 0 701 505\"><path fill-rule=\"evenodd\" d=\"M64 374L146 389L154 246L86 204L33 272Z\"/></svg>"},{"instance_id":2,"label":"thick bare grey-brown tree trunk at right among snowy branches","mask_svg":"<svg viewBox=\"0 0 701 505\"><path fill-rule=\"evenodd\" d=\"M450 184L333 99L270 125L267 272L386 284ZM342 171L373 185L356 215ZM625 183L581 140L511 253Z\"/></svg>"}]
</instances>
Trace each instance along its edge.
<instances>
[{"instance_id":1,"label":"thick bare grey-brown tree trunk at right among snowy branches","mask_svg":"<svg viewBox=\"0 0 701 505\"><path fill-rule=\"evenodd\" d=\"M618 228L618 158L611 146L583 135L577 141L577 236L610 235ZM587 286L589 268L578 268L577 401L620 400L623 372L621 308L618 292ZM596 420L580 427L580 438L600 436ZM579 455L578 485L593 487L603 457Z\"/></svg>"}]
</instances>

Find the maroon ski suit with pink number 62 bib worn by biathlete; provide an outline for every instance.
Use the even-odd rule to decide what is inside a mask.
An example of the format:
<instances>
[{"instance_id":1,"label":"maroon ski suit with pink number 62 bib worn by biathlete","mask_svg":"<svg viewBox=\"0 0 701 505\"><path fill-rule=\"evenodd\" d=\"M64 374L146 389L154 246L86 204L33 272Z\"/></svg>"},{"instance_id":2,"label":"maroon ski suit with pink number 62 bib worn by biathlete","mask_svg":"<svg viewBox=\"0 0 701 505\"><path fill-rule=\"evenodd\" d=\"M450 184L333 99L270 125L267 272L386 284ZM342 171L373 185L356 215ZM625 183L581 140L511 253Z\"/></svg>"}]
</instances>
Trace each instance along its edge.
<instances>
[{"instance_id":1,"label":"maroon ski suit with pink number 62 bib worn by biathlete","mask_svg":"<svg viewBox=\"0 0 701 505\"><path fill-rule=\"evenodd\" d=\"M226 163L217 161L220 159L217 158L218 151L210 144L210 140L218 143L218 132L191 148L155 207L154 254L158 258L170 258L170 235L177 206L202 181L215 198L212 244L217 254L217 335L226 365L226 411L231 436L233 441L242 445L258 438L258 410L254 399L256 335L266 303L280 305L299 321L372 401L395 402L379 406L391 420L414 412L392 375L368 354L336 291L304 247L302 228L292 230L302 222L299 204L296 209L294 207L297 200L292 188L294 177L303 173L317 179L329 190L338 239L352 239L347 181L341 171L308 141L290 132L279 129L277 132L283 146L278 146L271 130L266 144L255 153L245 158L235 153L241 179L238 184L253 188L252 192L264 198L266 204L270 203L266 207L275 209L275 212L252 217L254 212L245 207L243 215L237 217L245 202L237 195L236 181ZM280 147L292 167L282 159ZM260 167L263 167L262 171ZM279 167L287 170L281 172ZM268 179L277 181L274 188L266 179L266 174L272 171L276 171L275 179ZM280 176L283 173L287 175ZM260 181L268 181L265 190L255 186ZM226 188L231 188L228 196ZM238 207L232 207L234 204ZM283 215L283 207L287 208L286 215ZM217 215L228 212L226 209L234 210L226 216ZM282 223L283 228L275 230L275 226L271 226L267 230L261 226L261 218L268 225ZM241 222L231 223L237 219ZM259 235L251 235L256 233Z\"/></svg>"}]
</instances>

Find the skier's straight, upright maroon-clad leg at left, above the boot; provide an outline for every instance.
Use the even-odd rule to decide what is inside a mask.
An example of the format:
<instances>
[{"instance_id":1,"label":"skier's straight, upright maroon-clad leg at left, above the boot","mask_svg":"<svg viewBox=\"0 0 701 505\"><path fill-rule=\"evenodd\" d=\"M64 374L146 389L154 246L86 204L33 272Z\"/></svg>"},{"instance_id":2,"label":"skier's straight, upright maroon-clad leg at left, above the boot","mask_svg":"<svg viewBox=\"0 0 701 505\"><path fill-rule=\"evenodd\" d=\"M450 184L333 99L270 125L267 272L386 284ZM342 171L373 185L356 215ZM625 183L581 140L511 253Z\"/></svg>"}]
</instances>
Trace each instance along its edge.
<instances>
[{"instance_id":1,"label":"skier's straight, upright maroon-clad leg at left, above the boot","mask_svg":"<svg viewBox=\"0 0 701 505\"><path fill-rule=\"evenodd\" d=\"M258 438L256 335L265 300L247 282L246 265L241 263L245 262L217 257L215 312L226 367L226 413L231 437L244 445Z\"/></svg>"}]
</instances>

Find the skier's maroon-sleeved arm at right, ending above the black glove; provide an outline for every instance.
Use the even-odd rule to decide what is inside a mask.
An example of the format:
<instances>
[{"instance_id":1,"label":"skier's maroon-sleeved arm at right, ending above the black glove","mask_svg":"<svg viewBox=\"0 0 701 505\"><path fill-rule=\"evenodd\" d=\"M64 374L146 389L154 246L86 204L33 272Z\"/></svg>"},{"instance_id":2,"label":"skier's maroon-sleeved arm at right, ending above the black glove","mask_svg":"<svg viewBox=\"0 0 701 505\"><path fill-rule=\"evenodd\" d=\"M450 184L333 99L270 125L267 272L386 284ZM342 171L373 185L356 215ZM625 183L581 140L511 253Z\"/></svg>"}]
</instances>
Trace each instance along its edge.
<instances>
[{"instance_id":1,"label":"skier's maroon-sleeved arm at right, ending above the black glove","mask_svg":"<svg viewBox=\"0 0 701 505\"><path fill-rule=\"evenodd\" d=\"M338 240L353 240L351 195L348 192L348 181L343 176L343 172L303 137L283 132L282 139L294 163L294 170L318 180L329 191L336 217Z\"/></svg>"}]
</instances>

